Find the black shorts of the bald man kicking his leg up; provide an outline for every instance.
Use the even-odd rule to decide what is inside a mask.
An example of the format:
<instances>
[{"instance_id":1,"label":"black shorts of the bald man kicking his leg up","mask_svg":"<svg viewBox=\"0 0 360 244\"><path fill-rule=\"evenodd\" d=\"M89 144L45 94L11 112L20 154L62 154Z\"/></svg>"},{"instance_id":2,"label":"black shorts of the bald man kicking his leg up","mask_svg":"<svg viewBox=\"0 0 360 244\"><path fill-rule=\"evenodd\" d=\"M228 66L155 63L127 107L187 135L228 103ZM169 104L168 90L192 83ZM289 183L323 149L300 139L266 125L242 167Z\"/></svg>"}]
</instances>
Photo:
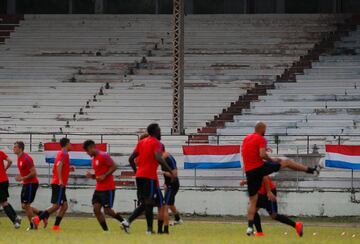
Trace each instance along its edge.
<instances>
[{"instance_id":1,"label":"black shorts of the bald man kicking his leg up","mask_svg":"<svg viewBox=\"0 0 360 244\"><path fill-rule=\"evenodd\" d=\"M267 161L262 166L246 172L249 196L255 196L258 193L264 176L278 172L280 168L281 164Z\"/></svg>"}]
</instances>

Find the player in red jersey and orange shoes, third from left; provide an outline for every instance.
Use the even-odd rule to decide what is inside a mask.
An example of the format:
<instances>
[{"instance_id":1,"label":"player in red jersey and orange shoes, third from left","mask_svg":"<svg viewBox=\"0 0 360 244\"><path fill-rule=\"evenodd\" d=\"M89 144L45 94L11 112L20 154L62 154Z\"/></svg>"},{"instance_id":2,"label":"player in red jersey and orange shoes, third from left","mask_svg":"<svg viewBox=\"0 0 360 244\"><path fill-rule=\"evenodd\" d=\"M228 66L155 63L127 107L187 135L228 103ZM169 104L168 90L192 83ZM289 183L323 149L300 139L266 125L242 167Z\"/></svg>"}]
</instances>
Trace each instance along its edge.
<instances>
[{"instance_id":1,"label":"player in red jersey and orange shoes, third from left","mask_svg":"<svg viewBox=\"0 0 360 244\"><path fill-rule=\"evenodd\" d=\"M51 214L59 210L55 219L53 231L60 230L60 223L68 209L66 198L66 186L69 180L70 172L74 171L74 167L70 166L69 151L71 150L70 140L62 138L60 140L61 151L56 155L53 166L53 178L51 181L51 204L52 206L41 212L39 216L32 218L35 229L38 228L41 220L44 222L44 228L47 227L48 218Z\"/></svg>"}]
</instances>

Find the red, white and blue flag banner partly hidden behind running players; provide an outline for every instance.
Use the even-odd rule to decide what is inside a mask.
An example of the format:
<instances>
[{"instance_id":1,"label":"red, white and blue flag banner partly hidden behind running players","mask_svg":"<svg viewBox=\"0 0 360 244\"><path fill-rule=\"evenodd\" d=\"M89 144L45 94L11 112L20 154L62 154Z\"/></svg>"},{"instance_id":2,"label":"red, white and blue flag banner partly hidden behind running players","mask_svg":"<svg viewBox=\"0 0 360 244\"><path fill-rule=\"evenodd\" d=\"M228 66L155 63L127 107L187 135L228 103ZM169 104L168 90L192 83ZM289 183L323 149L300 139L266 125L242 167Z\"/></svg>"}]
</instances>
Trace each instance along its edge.
<instances>
[{"instance_id":1,"label":"red, white and blue flag banner partly hidden behind running players","mask_svg":"<svg viewBox=\"0 0 360 244\"><path fill-rule=\"evenodd\" d=\"M100 151L106 152L107 144L96 144ZM56 154L61 150L61 146L57 142L48 142L44 144L45 161L46 163L53 164ZM89 166L91 165L91 157L82 148L81 143L71 144L71 151L69 152L70 164L76 166Z\"/></svg>"}]
</instances>

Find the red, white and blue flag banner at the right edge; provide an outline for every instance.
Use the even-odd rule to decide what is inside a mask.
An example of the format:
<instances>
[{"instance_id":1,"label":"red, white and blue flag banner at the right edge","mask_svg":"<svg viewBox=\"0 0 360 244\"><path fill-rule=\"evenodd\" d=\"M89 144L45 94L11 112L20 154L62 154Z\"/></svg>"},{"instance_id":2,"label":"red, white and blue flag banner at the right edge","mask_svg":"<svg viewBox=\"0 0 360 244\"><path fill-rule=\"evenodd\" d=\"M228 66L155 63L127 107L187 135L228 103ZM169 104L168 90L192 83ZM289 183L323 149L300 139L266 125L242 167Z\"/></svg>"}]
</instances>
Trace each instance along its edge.
<instances>
[{"instance_id":1,"label":"red, white and blue flag banner at the right edge","mask_svg":"<svg viewBox=\"0 0 360 244\"><path fill-rule=\"evenodd\" d=\"M360 170L360 146L326 145L325 166Z\"/></svg>"}]
</instances>

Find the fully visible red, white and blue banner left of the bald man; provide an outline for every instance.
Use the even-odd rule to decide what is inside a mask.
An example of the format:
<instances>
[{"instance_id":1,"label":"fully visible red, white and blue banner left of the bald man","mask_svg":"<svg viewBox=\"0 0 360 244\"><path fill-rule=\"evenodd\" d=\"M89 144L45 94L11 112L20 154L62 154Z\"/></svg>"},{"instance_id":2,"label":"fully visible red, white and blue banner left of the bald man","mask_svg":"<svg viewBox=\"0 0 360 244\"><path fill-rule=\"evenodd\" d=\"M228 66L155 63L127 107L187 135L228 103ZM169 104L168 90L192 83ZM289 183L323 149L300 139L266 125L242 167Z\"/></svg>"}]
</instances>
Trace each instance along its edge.
<instances>
[{"instance_id":1,"label":"fully visible red, white and blue banner left of the bald man","mask_svg":"<svg viewBox=\"0 0 360 244\"><path fill-rule=\"evenodd\" d=\"M183 146L185 169L241 168L239 145Z\"/></svg>"}]
</instances>

